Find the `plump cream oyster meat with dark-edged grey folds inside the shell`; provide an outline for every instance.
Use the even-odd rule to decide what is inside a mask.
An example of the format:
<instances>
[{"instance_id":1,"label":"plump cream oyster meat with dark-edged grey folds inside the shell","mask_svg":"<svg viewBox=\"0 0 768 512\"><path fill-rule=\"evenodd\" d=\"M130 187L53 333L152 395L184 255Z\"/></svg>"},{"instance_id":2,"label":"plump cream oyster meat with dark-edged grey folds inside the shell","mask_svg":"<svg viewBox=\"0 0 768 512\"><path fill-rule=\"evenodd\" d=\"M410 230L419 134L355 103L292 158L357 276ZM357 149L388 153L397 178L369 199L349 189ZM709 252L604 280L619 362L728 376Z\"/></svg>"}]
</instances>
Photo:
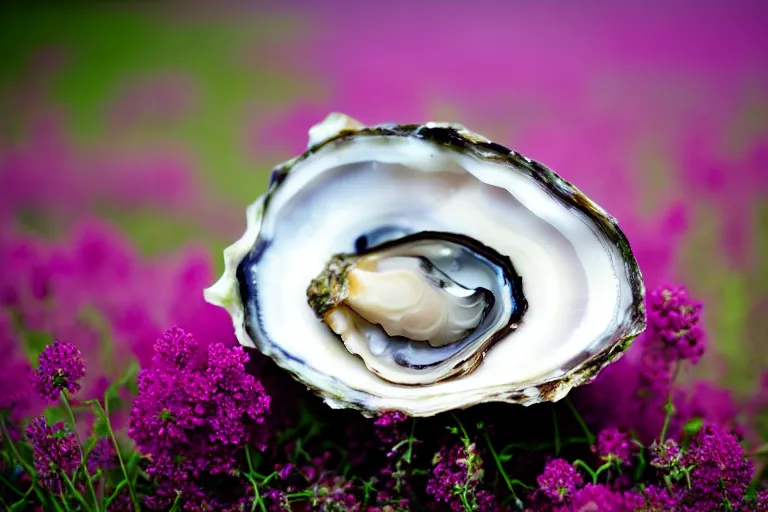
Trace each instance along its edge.
<instances>
[{"instance_id":1,"label":"plump cream oyster meat with dark-edged grey folds inside the shell","mask_svg":"<svg viewBox=\"0 0 768 512\"><path fill-rule=\"evenodd\" d=\"M424 231L334 256L307 295L351 353L399 384L473 370L526 308L509 258L465 236Z\"/></svg>"}]
</instances>

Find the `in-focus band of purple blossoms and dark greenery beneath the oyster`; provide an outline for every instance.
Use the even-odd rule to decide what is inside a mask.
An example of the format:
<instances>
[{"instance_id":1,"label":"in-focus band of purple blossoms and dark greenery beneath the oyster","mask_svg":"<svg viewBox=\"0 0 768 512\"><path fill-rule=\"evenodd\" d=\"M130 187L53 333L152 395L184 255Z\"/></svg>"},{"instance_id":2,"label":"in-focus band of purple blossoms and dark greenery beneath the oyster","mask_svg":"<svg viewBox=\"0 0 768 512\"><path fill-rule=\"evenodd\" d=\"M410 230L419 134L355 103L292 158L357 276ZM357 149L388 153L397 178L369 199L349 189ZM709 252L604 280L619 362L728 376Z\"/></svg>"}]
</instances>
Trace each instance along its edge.
<instances>
[{"instance_id":1,"label":"in-focus band of purple blossoms and dark greenery beneath the oyster","mask_svg":"<svg viewBox=\"0 0 768 512\"><path fill-rule=\"evenodd\" d=\"M701 306L684 288L662 287L649 294L648 311L648 333L633 349L641 357L618 364L629 399L612 401L619 386L609 373L579 390L603 393L605 412L583 417L576 396L567 405L368 420L302 394L254 352L203 348L178 327L157 339L135 388L118 386L128 395L113 385L103 399L79 401L84 357L54 342L31 372L46 414L21 428L15 402L3 402L0 498L14 510L768 510L732 419L694 399L674 405L674 377L703 351ZM648 354L658 352L664 385L652 386ZM132 402L122 432L109 417L119 396ZM622 407L633 414L609 413ZM660 423L648 422L659 414Z\"/></svg>"}]
</instances>

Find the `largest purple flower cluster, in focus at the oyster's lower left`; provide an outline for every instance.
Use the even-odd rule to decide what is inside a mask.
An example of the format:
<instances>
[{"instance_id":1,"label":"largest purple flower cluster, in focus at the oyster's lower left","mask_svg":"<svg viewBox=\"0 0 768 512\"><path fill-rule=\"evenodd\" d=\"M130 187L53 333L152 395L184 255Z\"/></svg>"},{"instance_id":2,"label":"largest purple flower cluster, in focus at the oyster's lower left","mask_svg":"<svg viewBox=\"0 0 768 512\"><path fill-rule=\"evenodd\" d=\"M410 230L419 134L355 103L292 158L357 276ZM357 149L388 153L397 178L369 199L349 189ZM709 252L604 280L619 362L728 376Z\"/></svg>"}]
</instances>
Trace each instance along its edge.
<instances>
[{"instance_id":1,"label":"largest purple flower cluster, in focus at the oyster's lower left","mask_svg":"<svg viewBox=\"0 0 768 512\"><path fill-rule=\"evenodd\" d=\"M199 362L194 338L171 328L155 350L153 367L139 374L128 430L158 484L148 503L162 508L179 493L203 508L222 507L229 502L208 495L203 481L235 475L244 450L263 446L270 398L246 373L241 347L210 345L207 361Z\"/></svg>"}]
</instances>

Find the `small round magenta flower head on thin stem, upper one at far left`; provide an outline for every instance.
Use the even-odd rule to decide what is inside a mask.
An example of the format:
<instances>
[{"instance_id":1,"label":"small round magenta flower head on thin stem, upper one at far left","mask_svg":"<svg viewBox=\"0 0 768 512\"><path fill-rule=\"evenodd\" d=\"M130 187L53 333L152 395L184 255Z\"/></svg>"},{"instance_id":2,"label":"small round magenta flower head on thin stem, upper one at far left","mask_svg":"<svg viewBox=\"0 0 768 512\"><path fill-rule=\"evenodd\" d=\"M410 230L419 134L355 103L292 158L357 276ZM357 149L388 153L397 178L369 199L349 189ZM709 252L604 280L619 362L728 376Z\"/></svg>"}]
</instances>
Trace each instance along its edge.
<instances>
[{"instance_id":1,"label":"small round magenta flower head on thin stem, upper one at far left","mask_svg":"<svg viewBox=\"0 0 768 512\"><path fill-rule=\"evenodd\" d=\"M41 398L55 402L64 390L73 395L77 393L84 376L85 360L77 347L55 341L40 354L32 384Z\"/></svg>"}]
</instances>

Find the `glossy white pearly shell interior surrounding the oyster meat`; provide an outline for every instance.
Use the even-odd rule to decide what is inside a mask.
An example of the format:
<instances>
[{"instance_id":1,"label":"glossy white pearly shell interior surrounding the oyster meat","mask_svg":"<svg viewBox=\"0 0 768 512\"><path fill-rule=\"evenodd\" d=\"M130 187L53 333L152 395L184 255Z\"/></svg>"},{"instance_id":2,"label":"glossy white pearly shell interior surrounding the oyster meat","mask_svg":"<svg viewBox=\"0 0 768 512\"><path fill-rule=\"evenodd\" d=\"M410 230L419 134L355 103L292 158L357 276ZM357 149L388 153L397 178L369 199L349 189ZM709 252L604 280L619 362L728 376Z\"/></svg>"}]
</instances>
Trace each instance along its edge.
<instances>
[{"instance_id":1,"label":"glossy white pearly shell interior surrounding the oyster meat","mask_svg":"<svg viewBox=\"0 0 768 512\"><path fill-rule=\"evenodd\" d=\"M249 209L249 229L225 253L227 273L206 297L229 309L241 343L253 345L242 328L234 267L257 236L270 240L258 263L269 343L258 345L323 390L331 405L425 416L503 399L510 390L536 393L531 386L609 342L632 306L618 249L585 215L524 172L414 137L332 143L291 169L263 217L261 201ZM331 255L352 252L360 233L393 224L468 235L508 255L522 276L528 311L521 326L468 375L421 386L387 382L307 305L307 285Z\"/></svg>"}]
</instances>

